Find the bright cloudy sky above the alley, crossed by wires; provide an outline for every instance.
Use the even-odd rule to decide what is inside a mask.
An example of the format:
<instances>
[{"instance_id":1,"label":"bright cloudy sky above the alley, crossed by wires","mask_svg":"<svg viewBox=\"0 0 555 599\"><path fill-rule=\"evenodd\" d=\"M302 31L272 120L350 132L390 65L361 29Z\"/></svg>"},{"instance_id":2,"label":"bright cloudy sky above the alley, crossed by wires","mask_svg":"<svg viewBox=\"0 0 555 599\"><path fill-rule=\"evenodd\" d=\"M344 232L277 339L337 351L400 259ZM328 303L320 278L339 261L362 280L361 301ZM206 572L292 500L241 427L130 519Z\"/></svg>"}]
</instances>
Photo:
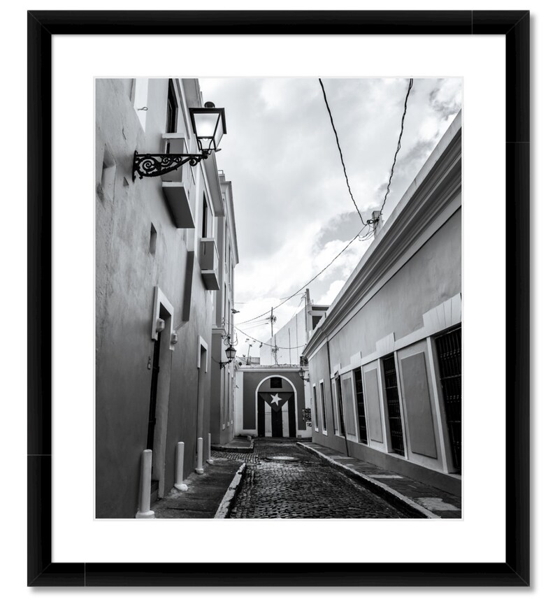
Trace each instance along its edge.
<instances>
[{"instance_id":1,"label":"bright cloudy sky above the alley, crossed by wires","mask_svg":"<svg viewBox=\"0 0 555 599\"><path fill-rule=\"evenodd\" d=\"M363 219L380 208L394 158L407 79L324 79L347 175ZM343 250L361 228L317 78L201 79L205 101L226 109L218 167L233 182L239 261L235 308L238 354L247 337L266 341L268 322L244 321L277 306ZM462 80L415 79L408 99L384 220L456 113ZM349 246L310 284L329 304L372 240ZM275 331L300 310L298 295L275 310ZM254 342L251 355L259 355Z\"/></svg>"}]
</instances>

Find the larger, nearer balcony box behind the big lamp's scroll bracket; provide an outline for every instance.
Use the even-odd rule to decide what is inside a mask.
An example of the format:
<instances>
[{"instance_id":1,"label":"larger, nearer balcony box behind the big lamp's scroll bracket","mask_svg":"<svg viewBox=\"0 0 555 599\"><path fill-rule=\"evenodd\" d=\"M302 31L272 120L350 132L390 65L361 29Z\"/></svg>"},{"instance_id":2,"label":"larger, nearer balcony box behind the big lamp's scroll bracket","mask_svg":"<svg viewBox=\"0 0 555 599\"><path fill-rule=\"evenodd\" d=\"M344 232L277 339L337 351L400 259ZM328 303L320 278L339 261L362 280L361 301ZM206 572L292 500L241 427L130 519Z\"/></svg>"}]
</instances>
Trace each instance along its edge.
<instances>
[{"instance_id":1,"label":"larger, nearer balcony box behind the big lamp's scroll bracket","mask_svg":"<svg viewBox=\"0 0 555 599\"><path fill-rule=\"evenodd\" d=\"M164 154L187 154L185 133L163 133L161 152ZM191 168L182 166L177 171L162 175L162 192L178 229L194 229L194 218L187 197Z\"/></svg>"}]
</instances>

